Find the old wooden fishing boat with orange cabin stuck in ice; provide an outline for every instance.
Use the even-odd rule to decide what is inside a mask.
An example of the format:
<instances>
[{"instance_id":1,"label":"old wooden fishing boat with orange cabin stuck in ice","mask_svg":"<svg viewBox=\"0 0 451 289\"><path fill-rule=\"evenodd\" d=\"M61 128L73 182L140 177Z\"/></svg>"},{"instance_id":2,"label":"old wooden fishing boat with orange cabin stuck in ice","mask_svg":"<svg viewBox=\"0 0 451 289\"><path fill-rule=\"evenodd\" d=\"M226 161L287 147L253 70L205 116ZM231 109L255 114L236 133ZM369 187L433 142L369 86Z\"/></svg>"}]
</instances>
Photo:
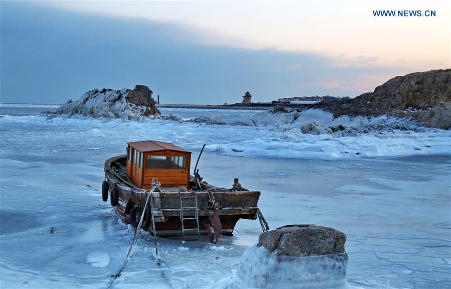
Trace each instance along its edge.
<instances>
[{"instance_id":1,"label":"old wooden fishing boat with orange cabin stuck in ice","mask_svg":"<svg viewBox=\"0 0 451 289\"><path fill-rule=\"evenodd\" d=\"M125 155L105 162L103 201L109 197L120 218L154 236L210 235L216 242L232 236L238 220L257 217L263 231L269 229L257 206L260 191L243 188L237 178L230 189L208 184L199 159L191 175L191 154L169 142L128 142Z\"/></svg>"}]
</instances>

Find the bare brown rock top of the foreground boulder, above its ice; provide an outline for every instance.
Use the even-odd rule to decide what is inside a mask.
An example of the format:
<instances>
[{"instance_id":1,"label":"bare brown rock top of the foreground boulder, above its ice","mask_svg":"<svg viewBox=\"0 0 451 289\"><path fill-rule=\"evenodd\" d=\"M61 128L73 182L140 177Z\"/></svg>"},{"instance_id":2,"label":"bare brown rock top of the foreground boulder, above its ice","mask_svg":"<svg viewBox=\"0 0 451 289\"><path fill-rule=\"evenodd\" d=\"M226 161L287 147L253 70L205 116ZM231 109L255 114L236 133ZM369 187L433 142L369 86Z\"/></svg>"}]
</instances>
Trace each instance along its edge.
<instances>
[{"instance_id":1,"label":"bare brown rock top of the foreground boulder, above its ice","mask_svg":"<svg viewBox=\"0 0 451 289\"><path fill-rule=\"evenodd\" d=\"M309 225L289 225L262 233L259 247L279 255L309 256L345 252L346 235L334 228Z\"/></svg>"}]
</instances>

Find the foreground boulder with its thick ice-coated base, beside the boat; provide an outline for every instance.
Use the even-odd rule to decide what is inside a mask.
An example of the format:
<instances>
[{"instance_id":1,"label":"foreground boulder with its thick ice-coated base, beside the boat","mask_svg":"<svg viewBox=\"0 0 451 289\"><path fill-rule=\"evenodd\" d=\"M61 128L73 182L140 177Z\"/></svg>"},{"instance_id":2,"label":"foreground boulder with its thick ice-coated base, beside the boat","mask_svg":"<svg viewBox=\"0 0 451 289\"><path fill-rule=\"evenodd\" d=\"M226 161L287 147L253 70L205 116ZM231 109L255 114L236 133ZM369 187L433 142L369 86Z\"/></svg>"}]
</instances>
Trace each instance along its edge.
<instances>
[{"instance_id":1,"label":"foreground boulder with its thick ice-coated base, beside the boat","mask_svg":"<svg viewBox=\"0 0 451 289\"><path fill-rule=\"evenodd\" d=\"M289 225L260 235L241 256L236 287L318 288L346 282L346 235L329 227Z\"/></svg>"}]
</instances>

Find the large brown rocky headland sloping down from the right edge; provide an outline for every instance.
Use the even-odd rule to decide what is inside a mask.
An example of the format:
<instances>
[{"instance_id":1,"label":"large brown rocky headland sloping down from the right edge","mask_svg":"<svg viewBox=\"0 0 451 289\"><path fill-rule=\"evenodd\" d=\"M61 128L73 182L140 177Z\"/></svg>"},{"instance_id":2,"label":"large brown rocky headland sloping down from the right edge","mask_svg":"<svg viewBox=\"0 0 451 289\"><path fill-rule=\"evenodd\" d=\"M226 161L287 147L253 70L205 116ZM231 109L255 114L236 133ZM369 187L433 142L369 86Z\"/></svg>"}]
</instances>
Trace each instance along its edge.
<instances>
[{"instance_id":1,"label":"large brown rocky headland sloping down from the right edge","mask_svg":"<svg viewBox=\"0 0 451 289\"><path fill-rule=\"evenodd\" d=\"M451 127L451 69L397 76L353 99L313 105L340 115L410 117L429 127Z\"/></svg>"}]
</instances>

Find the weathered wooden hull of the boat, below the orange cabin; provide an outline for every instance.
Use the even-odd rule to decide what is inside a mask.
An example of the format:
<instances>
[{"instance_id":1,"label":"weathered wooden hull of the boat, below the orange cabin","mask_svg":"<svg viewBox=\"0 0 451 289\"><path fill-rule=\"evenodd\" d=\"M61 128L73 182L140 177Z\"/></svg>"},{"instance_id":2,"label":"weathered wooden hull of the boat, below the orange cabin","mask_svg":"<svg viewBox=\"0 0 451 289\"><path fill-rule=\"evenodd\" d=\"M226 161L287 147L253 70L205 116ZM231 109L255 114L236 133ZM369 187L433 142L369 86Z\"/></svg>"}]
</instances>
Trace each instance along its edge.
<instances>
[{"instance_id":1,"label":"weathered wooden hull of the boat, below the orange cabin","mask_svg":"<svg viewBox=\"0 0 451 289\"><path fill-rule=\"evenodd\" d=\"M105 177L108 182L109 191L117 190L118 204L115 206L116 213L127 223L130 222L130 216L125 214L125 206L131 198L133 207L139 206L147 196L146 190L139 189L131 185L125 175L120 175L124 169L126 156L117 156L108 159L105 162ZM125 165L126 166L126 165ZM125 167L126 170L126 167ZM194 184L193 184L194 185ZM219 218L222 224L221 234L231 236L233 229L239 219L257 218L257 203L260 197L259 191L230 191L209 185L205 182L201 183L203 190L214 190L213 194L216 203L219 203ZM221 191L224 190L224 191ZM182 223L180 219L180 196L197 197L197 208L199 215L200 233L206 235L207 229L205 225L209 223L208 216L213 214L214 209L209 202L207 191L185 192L179 193L177 188L160 188L159 192L151 193L153 214L155 217L155 227L159 236L176 236L182 234ZM184 199L184 207L194 207L194 199ZM184 217L194 217L194 210L186 209L183 211ZM196 221L184 221L185 228L196 228ZM152 227L152 225L150 225ZM149 227L144 228L151 231ZM187 231L185 235L197 234L196 230Z\"/></svg>"}]
</instances>

